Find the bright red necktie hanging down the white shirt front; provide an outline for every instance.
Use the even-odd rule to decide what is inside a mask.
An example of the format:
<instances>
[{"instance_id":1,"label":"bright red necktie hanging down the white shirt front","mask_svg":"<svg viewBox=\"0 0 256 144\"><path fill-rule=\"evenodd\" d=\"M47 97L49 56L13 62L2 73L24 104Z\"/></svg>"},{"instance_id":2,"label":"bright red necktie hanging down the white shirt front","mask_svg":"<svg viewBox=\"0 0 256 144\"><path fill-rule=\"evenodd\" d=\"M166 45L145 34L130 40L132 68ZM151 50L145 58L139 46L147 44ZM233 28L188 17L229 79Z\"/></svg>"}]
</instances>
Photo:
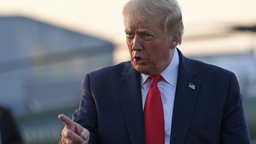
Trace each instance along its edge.
<instances>
[{"instance_id":1,"label":"bright red necktie hanging down the white shirt front","mask_svg":"<svg viewBox=\"0 0 256 144\"><path fill-rule=\"evenodd\" d=\"M144 106L145 144L165 143L165 121L162 98L157 83L162 78L160 74L149 76L152 79Z\"/></svg>"}]
</instances>

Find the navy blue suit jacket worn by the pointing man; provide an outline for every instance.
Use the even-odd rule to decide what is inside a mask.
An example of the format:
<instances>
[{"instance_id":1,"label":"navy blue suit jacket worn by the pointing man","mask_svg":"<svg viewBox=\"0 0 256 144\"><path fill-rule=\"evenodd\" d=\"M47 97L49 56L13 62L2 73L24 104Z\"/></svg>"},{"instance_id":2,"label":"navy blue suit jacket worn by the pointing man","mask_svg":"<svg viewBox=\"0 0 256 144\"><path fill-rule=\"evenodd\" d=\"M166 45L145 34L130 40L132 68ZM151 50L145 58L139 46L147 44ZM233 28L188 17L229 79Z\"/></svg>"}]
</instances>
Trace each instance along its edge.
<instances>
[{"instance_id":1,"label":"navy blue suit jacket worn by the pointing man","mask_svg":"<svg viewBox=\"0 0 256 144\"><path fill-rule=\"evenodd\" d=\"M250 143L235 74L178 53L170 143ZM130 61L87 74L82 88L73 121L90 131L90 144L144 143L140 73Z\"/></svg>"}]
</instances>

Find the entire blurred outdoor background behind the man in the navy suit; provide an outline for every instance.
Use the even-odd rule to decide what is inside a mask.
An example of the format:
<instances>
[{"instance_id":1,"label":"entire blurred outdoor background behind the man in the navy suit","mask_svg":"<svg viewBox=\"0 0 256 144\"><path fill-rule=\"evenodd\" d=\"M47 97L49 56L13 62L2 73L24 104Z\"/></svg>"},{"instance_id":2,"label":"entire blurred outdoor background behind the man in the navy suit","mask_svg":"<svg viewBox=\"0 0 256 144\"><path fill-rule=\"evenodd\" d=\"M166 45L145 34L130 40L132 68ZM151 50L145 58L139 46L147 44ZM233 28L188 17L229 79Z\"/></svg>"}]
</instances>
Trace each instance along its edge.
<instances>
[{"instance_id":1,"label":"entire blurred outdoor background behind the man in the navy suit","mask_svg":"<svg viewBox=\"0 0 256 144\"><path fill-rule=\"evenodd\" d=\"M78 109L82 78L128 61L122 8L127 0L0 0L0 105L11 110L23 143L57 143ZM256 143L256 1L178 0L190 58L238 77Z\"/></svg>"}]
</instances>

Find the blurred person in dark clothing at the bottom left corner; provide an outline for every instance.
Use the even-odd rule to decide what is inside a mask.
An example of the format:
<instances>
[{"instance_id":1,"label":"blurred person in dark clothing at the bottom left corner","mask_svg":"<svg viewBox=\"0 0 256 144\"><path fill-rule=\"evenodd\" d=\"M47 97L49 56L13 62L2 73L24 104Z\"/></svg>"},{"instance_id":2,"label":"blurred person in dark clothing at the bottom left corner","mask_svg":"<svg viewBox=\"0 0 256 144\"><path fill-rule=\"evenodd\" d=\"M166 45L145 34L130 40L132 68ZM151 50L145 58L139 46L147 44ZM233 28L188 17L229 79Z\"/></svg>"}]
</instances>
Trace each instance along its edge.
<instances>
[{"instance_id":1,"label":"blurred person in dark clothing at the bottom left corner","mask_svg":"<svg viewBox=\"0 0 256 144\"><path fill-rule=\"evenodd\" d=\"M0 144L21 144L21 136L9 109L0 107Z\"/></svg>"}]
</instances>

